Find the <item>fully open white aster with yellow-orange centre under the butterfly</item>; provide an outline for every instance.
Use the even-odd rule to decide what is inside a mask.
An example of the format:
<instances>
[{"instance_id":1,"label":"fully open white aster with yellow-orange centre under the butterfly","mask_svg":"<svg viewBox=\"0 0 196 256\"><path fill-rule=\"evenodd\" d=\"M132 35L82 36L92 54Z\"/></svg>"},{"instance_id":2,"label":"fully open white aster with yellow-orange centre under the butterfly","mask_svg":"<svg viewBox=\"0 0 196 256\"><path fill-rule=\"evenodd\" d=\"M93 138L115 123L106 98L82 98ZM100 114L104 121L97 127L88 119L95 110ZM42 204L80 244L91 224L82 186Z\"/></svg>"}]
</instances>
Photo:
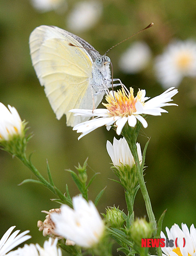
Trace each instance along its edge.
<instances>
[{"instance_id":1,"label":"fully open white aster with yellow-orange centre under the butterfly","mask_svg":"<svg viewBox=\"0 0 196 256\"><path fill-rule=\"evenodd\" d=\"M96 117L73 127L73 130L82 132L78 139L103 125L107 126L107 129L109 129L114 123L114 126L116 126L116 134L118 135L121 134L127 121L129 126L134 127L138 120L142 123L143 127L146 128L148 124L142 117L142 114L161 115L161 113L168 113L165 109L162 109L162 107L178 106L174 103L168 103L172 101L172 96L178 93L178 90L174 89L174 87L167 89L167 91L151 100L148 100L149 97L145 96L145 90L139 89L136 97L133 95L132 88L130 88L130 92L127 91L122 88L122 90L114 92L114 95L112 91L106 95L105 98L108 104L103 103L103 105L107 109L101 108L94 109L93 111L92 109L71 109L70 112L75 113L76 116ZM148 101L145 102L145 100Z\"/></svg>"}]
</instances>

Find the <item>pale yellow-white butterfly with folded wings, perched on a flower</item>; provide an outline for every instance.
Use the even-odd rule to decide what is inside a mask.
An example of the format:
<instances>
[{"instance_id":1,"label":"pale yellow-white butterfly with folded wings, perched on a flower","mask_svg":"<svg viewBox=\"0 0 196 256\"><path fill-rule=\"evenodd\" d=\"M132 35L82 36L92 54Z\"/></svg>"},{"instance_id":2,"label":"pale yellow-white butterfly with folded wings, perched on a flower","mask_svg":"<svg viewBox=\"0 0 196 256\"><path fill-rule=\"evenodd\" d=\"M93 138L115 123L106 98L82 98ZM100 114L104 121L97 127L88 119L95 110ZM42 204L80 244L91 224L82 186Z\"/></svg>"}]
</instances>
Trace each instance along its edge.
<instances>
[{"instance_id":1,"label":"pale yellow-white butterfly with folded wings, perched on a flower","mask_svg":"<svg viewBox=\"0 0 196 256\"><path fill-rule=\"evenodd\" d=\"M68 126L87 120L73 116L69 110L93 109L100 104L112 87L109 57L101 56L77 35L54 26L43 25L33 30L29 45L36 75L57 119L65 114Z\"/></svg>"}]
</instances>

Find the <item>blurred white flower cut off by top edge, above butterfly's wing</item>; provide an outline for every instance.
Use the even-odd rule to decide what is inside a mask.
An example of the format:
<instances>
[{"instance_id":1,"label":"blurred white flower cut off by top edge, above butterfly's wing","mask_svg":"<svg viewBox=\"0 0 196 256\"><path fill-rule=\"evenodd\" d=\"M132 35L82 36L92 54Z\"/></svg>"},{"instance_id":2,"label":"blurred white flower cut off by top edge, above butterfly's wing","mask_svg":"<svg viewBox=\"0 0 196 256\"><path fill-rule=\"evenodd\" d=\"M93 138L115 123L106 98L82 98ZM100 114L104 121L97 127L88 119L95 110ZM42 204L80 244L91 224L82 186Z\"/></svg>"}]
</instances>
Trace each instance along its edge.
<instances>
[{"instance_id":1,"label":"blurred white flower cut off by top edge, above butterfly's wing","mask_svg":"<svg viewBox=\"0 0 196 256\"><path fill-rule=\"evenodd\" d=\"M32 5L35 9L41 12L52 11L66 6L66 0L31 0Z\"/></svg>"}]
</instances>

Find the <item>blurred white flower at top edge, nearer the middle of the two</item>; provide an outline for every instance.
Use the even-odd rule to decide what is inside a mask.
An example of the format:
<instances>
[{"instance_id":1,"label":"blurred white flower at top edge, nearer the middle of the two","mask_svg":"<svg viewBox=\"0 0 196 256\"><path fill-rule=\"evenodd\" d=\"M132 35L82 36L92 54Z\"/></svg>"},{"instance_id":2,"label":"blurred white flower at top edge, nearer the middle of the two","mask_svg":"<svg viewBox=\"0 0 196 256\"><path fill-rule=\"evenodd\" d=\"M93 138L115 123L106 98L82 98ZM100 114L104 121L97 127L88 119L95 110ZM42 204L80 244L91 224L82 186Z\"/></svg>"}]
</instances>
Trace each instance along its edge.
<instances>
[{"instance_id":1,"label":"blurred white flower at top edge, nearer the middle of the two","mask_svg":"<svg viewBox=\"0 0 196 256\"><path fill-rule=\"evenodd\" d=\"M102 15L102 2L98 0L76 3L73 11L67 17L69 30L82 32L92 28Z\"/></svg>"}]
</instances>

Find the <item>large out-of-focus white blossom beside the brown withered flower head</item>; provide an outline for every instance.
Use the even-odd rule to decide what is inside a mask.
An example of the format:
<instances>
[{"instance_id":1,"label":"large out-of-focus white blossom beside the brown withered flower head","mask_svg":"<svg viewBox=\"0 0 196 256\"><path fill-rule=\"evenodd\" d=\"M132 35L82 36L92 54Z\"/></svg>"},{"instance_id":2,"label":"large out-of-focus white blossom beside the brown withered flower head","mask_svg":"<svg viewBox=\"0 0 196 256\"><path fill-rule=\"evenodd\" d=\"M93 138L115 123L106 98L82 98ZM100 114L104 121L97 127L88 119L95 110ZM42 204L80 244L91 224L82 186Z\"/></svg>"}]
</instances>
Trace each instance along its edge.
<instances>
[{"instance_id":1,"label":"large out-of-focus white blossom beside the brown withered flower head","mask_svg":"<svg viewBox=\"0 0 196 256\"><path fill-rule=\"evenodd\" d=\"M93 202L82 195L73 197L73 209L61 206L61 213L51 213L56 233L74 241L76 245L90 248L103 236L104 224Z\"/></svg>"}]
</instances>

